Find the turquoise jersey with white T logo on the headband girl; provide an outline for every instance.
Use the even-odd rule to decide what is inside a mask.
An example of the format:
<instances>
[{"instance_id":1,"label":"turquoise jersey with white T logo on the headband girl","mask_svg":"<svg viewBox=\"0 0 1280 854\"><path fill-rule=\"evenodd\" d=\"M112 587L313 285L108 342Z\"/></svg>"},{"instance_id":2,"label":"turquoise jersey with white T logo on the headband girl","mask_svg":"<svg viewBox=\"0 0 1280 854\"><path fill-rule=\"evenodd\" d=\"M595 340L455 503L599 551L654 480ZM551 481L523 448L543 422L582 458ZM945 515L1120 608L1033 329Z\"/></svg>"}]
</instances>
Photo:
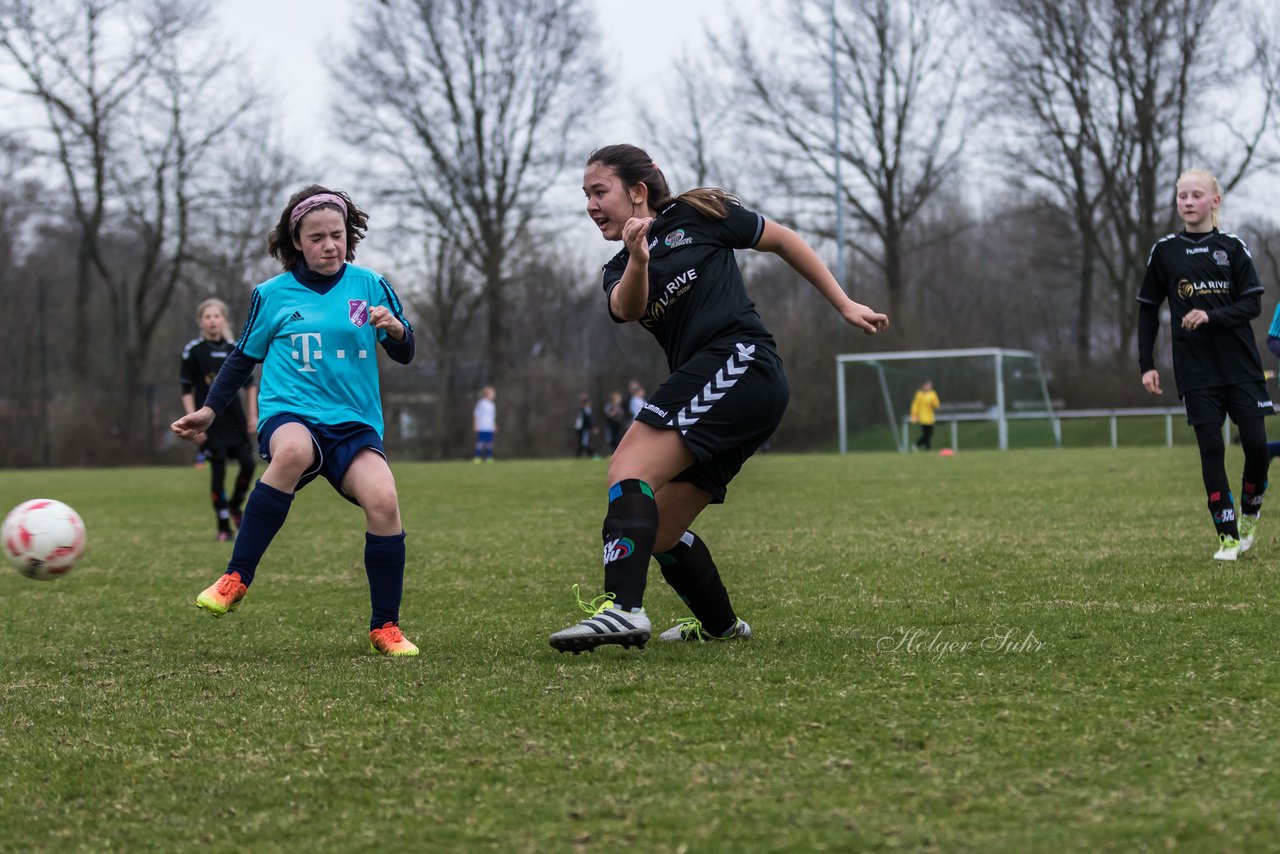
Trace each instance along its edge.
<instances>
[{"instance_id":1,"label":"turquoise jersey with white T logo on the headband girl","mask_svg":"<svg viewBox=\"0 0 1280 854\"><path fill-rule=\"evenodd\" d=\"M317 425L356 421L383 434L376 344L369 312L387 306L404 320L396 291L378 273L348 264L324 293L292 273L253 288L241 351L262 362L259 425L289 412Z\"/></svg>"}]
</instances>

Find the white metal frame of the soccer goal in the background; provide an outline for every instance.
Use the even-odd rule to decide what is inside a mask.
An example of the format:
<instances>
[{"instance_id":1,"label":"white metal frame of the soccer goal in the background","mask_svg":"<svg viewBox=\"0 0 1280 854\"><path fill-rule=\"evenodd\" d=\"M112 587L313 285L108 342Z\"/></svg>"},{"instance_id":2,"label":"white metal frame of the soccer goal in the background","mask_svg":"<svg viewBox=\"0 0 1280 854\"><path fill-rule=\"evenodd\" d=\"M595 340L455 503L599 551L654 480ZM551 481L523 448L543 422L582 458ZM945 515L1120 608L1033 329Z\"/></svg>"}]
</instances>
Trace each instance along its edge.
<instances>
[{"instance_id":1,"label":"white metal frame of the soccer goal in the background","mask_svg":"<svg viewBox=\"0 0 1280 854\"><path fill-rule=\"evenodd\" d=\"M1044 397L1044 412L1036 414L1036 417L1047 417L1053 426L1053 435L1057 438L1059 421L1053 415L1053 401L1048 394L1048 382L1044 378L1044 369L1041 366L1039 355L1030 350L1007 350L1004 347L969 347L961 350L910 350L910 351L896 351L896 352L882 352L882 353L841 353L836 356L836 411L838 414L838 430L840 430L840 453L849 453L849 411L847 411L847 391L846 391L846 366L850 364L867 364L876 369L876 378L879 382L881 396L884 401L884 415L888 420L888 429L893 437L893 447L899 452L906 452L909 440L906 440L902 433L897 428L897 417L893 412L893 399L890 393L888 383L884 379L884 369L879 362L890 361L906 361L906 360L933 360L933 359L966 359L966 357L989 357L993 359L993 373L996 380L996 406L995 414L991 416L983 416L980 420L995 421L996 431L998 437L998 447L1001 451L1009 449L1009 419L1010 415L1005 407L1005 359L1012 356L1016 359L1029 359L1036 366L1037 379L1039 380L1041 392ZM1027 417L1021 415L1020 417ZM1060 439L1059 439L1060 440Z\"/></svg>"}]
</instances>

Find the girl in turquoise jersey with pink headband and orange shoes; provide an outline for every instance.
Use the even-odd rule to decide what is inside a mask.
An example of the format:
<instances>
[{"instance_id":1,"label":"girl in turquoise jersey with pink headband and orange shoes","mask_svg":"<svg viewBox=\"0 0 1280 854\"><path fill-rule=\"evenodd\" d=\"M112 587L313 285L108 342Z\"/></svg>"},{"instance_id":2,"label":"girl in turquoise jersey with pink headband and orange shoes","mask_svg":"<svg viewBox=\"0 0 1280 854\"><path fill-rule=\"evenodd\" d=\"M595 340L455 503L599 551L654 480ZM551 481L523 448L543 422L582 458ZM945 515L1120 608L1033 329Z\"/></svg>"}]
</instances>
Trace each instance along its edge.
<instances>
[{"instance_id":1,"label":"girl in turquoise jersey with pink headband and orange shoes","mask_svg":"<svg viewBox=\"0 0 1280 854\"><path fill-rule=\"evenodd\" d=\"M347 193L312 184L289 198L268 237L284 273L253 289L236 350L205 405L173 423L193 439L209 429L262 364L259 452L266 471L250 493L227 572L196 598L214 616L236 608L259 561L284 524L293 494L319 476L365 511L365 574L375 653L416 656L399 630L404 529L383 449L378 344L394 361L413 359L413 328L378 273L355 266L369 218Z\"/></svg>"}]
</instances>

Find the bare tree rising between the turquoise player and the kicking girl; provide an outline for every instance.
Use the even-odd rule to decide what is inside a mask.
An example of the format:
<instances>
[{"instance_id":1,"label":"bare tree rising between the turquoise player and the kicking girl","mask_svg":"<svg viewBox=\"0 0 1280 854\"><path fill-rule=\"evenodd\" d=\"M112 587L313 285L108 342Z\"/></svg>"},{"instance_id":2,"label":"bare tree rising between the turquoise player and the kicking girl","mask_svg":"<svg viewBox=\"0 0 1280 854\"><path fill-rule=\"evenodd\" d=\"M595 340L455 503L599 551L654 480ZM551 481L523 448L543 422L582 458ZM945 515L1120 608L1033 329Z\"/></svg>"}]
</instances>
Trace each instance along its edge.
<instances>
[{"instance_id":1,"label":"bare tree rising between the turquoise player and the kicking girl","mask_svg":"<svg viewBox=\"0 0 1280 854\"><path fill-rule=\"evenodd\" d=\"M479 274L488 370L503 370L507 287L602 88L582 0L366 1L348 65L347 138L384 192ZM444 296L444 294L440 294Z\"/></svg>"}]
</instances>

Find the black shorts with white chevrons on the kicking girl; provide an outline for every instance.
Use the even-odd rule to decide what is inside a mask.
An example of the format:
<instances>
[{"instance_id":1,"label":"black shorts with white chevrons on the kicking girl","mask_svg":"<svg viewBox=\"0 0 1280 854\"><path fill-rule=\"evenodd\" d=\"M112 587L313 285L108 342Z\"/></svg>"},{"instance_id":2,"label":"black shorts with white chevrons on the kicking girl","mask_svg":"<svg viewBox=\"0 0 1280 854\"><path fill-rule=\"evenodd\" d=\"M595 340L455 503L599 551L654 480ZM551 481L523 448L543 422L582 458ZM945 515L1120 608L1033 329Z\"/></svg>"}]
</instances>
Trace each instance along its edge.
<instances>
[{"instance_id":1,"label":"black shorts with white chevrons on the kicking girl","mask_svg":"<svg viewBox=\"0 0 1280 854\"><path fill-rule=\"evenodd\" d=\"M676 475L724 501L728 481L782 421L791 387L769 344L721 342L676 369L637 421L680 430L698 461Z\"/></svg>"}]
</instances>

